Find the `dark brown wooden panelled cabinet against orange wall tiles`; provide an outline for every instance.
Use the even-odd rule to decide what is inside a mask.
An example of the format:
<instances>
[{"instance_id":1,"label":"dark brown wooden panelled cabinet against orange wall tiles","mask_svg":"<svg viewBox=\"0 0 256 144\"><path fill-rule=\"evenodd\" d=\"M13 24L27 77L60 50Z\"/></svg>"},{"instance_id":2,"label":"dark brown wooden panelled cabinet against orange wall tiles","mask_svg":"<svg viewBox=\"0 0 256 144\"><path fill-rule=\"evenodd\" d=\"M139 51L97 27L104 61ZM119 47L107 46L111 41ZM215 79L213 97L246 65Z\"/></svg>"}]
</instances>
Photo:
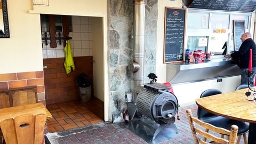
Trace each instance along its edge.
<instances>
[{"instance_id":1,"label":"dark brown wooden panelled cabinet against orange wall tiles","mask_svg":"<svg viewBox=\"0 0 256 144\"><path fill-rule=\"evenodd\" d=\"M0 108L37 103L36 86L0 90Z\"/></svg>"}]
</instances>

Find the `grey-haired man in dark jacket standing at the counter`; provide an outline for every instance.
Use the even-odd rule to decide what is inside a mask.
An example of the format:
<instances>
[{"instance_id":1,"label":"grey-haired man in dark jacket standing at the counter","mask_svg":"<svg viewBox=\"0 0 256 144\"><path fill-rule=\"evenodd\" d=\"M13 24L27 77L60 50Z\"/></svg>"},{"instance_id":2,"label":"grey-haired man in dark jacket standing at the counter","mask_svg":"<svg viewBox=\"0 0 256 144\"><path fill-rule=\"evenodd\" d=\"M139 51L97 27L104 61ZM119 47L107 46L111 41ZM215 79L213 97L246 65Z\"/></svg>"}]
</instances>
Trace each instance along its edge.
<instances>
[{"instance_id":1,"label":"grey-haired man in dark jacket standing at the counter","mask_svg":"<svg viewBox=\"0 0 256 144\"><path fill-rule=\"evenodd\" d=\"M240 38L242 44L239 47L239 50L230 54L230 57L237 61L237 66L241 69L241 84L250 84L251 86L254 86L254 77L256 73L256 45L251 37L252 35L249 32L244 33ZM252 74L249 80L247 70L249 67L250 49L252 49Z\"/></svg>"}]
</instances>

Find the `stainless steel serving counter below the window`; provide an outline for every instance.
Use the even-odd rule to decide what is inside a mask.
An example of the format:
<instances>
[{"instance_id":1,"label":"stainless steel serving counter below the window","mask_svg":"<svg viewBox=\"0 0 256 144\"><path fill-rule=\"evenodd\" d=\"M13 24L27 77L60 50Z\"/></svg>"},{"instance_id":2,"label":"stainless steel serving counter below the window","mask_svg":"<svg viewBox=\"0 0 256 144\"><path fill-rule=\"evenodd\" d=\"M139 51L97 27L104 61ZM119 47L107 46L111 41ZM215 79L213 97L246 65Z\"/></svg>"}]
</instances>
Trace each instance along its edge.
<instances>
[{"instance_id":1,"label":"stainless steel serving counter below the window","mask_svg":"<svg viewBox=\"0 0 256 144\"><path fill-rule=\"evenodd\" d=\"M171 84L205 81L206 79L240 75L234 60L214 55L211 60L198 63L168 63L166 82Z\"/></svg>"}]
</instances>

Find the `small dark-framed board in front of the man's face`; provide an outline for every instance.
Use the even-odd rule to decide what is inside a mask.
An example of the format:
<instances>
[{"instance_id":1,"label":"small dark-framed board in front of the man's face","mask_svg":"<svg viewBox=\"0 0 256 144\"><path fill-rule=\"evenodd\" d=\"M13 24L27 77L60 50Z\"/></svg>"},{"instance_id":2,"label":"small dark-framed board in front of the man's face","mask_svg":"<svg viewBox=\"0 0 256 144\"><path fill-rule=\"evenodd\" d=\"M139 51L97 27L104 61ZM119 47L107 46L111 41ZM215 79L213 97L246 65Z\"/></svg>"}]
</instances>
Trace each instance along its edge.
<instances>
[{"instance_id":1,"label":"small dark-framed board in front of the man's face","mask_svg":"<svg viewBox=\"0 0 256 144\"><path fill-rule=\"evenodd\" d=\"M241 36L245 33L245 21L233 20L234 50L238 51L242 44Z\"/></svg>"}]
</instances>

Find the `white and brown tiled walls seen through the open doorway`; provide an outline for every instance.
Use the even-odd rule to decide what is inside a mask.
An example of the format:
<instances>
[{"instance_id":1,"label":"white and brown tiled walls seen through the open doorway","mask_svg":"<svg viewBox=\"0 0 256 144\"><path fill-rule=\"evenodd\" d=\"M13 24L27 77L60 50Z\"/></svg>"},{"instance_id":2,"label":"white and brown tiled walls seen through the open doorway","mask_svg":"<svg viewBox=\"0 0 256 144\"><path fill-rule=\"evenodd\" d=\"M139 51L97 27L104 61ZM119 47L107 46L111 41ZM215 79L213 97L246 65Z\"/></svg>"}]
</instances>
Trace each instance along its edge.
<instances>
[{"instance_id":1,"label":"white and brown tiled walls seen through the open doorway","mask_svg":"<svg viewBox=\"0 0 256 144\"><path fill-rule=\"evenodd\" d=\"M79 102L79 87L76 80L77 76L81 73L89 76L92 87L92 100L98 99L104 105L102 18L68 16L68 36L72 38L70 39L70 46L73 52L75 70L66 74L63 67L65 62L63 41L65 39L58 39L57 37L55 40L57 46L51 47L49 26L47 26L47 20L42 19L46 19L46 16L46 14L41 14L46 107L69 101L70 103L74 101ZM61 27L63 27L59 25L62 23L60 22L59 15L57 15L56 23L56 36L59 36L58 33L62 34ZM89 105L93 101L86 103Z\"/></svg>"}]
</instances>

